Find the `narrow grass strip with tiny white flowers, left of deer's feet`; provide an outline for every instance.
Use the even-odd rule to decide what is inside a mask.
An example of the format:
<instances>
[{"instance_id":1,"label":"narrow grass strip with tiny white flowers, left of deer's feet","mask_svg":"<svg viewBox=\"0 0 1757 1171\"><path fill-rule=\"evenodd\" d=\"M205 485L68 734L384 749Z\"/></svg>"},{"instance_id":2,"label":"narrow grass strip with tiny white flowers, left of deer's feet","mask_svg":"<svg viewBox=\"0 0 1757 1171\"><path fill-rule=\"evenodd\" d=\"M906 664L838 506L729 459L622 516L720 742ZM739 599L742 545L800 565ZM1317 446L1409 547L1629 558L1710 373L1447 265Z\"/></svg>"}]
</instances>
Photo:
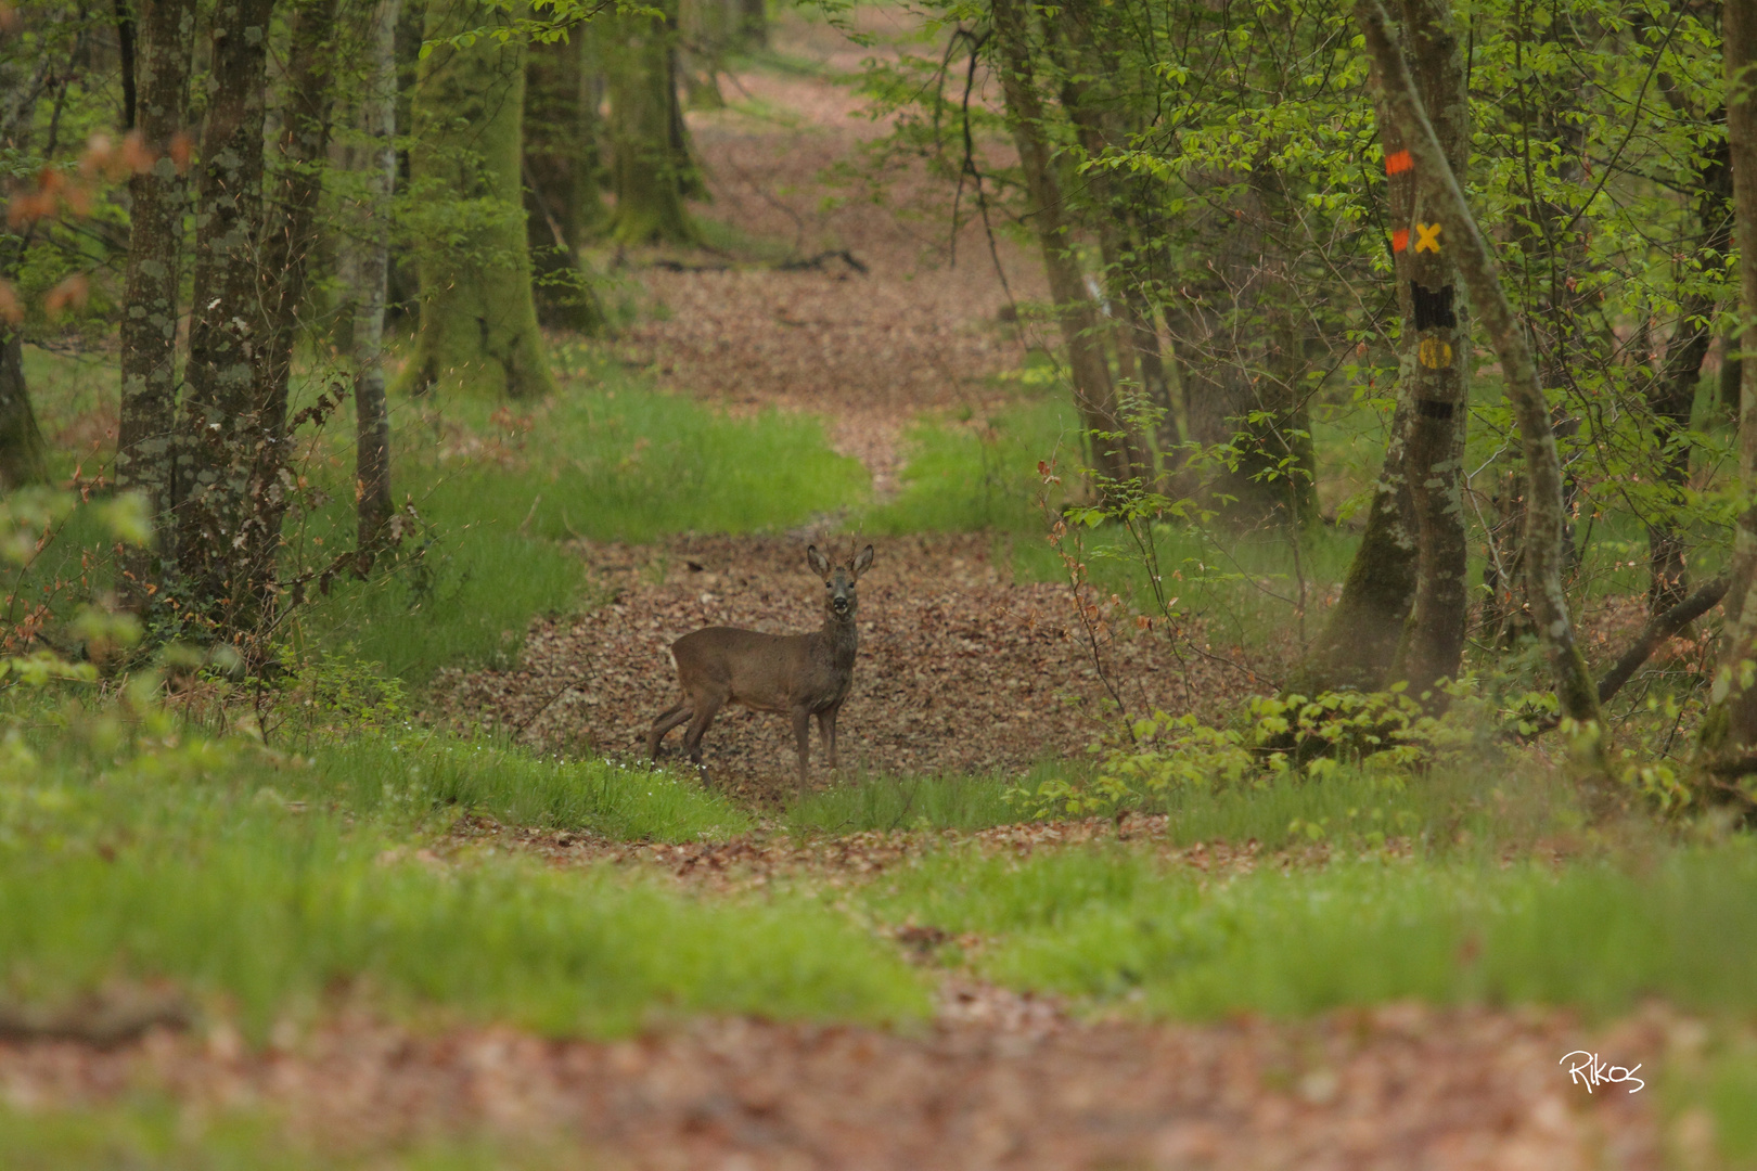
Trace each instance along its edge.
<instances>
[{"instance_id":1,"label":"narrow grass strip with tiny white flowers, left of deer's feet","mask_svg":"<svg viewBox=\"0 0 1757 1171\"><path fill-rule=\"evenodd\" d=\"M416 825L478 811L506 825L585 829L617 841L720 839L752 827L731 801L669 772L608 760L543 760L453 737L358 736L286 771L288 797Z\"/></svg>"}]
</instances>

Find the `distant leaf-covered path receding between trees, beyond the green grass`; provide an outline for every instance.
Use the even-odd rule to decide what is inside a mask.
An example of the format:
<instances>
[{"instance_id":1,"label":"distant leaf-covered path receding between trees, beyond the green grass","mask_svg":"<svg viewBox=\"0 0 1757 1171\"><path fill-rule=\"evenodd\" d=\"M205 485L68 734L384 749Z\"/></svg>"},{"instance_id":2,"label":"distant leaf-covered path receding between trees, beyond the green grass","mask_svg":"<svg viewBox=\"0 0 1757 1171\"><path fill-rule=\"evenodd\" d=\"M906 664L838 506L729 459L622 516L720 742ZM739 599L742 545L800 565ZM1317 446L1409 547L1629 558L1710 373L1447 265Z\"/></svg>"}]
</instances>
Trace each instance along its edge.
<instances>
[{"instance_id":1,"label":"distant leaf-covered path receding between trees, beyond the green grass","mask_svg":"<svg viewBox=\"0 0 1757 1171\"><path fill-rule=\"evenodd\" d=\"M1042 265L1005 239L991 253L980 221L963 225L954 255L951 188L919 160L871 165L889 126L849 79L894 53L901 25L871 7L856 19L875 46L787 11L768 63L720 79L726 109L689 114L713 195L696 212L733 239L625 256L643 313L617 349L668 390L822 416L886 497L919 414L980 416L1005 400L991 377L1023 348L1003 307L1042 295ZM973 209L966 190L959 218Z\"/></svg>"}]
</instances>

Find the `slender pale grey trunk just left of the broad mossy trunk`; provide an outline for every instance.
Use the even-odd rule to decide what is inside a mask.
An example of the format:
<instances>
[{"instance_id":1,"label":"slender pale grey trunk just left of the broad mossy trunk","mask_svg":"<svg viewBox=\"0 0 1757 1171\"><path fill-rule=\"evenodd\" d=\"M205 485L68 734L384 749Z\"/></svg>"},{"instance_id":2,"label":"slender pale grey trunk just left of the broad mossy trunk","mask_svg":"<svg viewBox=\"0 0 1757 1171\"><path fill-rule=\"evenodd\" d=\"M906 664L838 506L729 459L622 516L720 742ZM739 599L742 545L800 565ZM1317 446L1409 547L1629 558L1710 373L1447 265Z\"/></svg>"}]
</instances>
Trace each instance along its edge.
<instances>
[{"instance_id":1,"label":"slender pale grey trunk just left of the broad mossy trunk","mask_svg":"<svg viewBox=\"0 0 1757 1171\"><path fill-rule=\"evenodd\" d=\"M371 83L360 104L371 142L362 230L353 263L353 495L358 571L371 572L390 520L390 413L385 404L385 284L390 267L390 197L397 184L397 16L378 0L371 28Z\"/></svg>"}]
</instances>

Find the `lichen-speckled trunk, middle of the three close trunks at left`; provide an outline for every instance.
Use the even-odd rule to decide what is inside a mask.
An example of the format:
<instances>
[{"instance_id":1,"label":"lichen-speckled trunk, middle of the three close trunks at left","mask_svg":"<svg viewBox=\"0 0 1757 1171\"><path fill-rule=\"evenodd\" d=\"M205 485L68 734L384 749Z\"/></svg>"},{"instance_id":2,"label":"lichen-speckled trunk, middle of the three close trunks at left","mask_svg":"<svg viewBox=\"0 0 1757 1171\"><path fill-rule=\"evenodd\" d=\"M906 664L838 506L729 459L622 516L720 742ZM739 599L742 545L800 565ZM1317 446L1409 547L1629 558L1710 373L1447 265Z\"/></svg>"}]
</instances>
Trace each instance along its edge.
<instances>
[{"instance_id":1,"label":"lichen-speckled trunk, middle of the three close trunks at left","mask_svg":"<svg viewBox=\"0 0 1757 1171\"><path fill-rule=\"evenodd\" d=\"M258 625L251 579L258 518L251 486L272 442L255 400L264 316L264 88L274 0L237 0L214 14L213 100L195 195L195 277L188 393L177 437L177 564L200 625L242 641Z\"/></svg>"}]
</instances>

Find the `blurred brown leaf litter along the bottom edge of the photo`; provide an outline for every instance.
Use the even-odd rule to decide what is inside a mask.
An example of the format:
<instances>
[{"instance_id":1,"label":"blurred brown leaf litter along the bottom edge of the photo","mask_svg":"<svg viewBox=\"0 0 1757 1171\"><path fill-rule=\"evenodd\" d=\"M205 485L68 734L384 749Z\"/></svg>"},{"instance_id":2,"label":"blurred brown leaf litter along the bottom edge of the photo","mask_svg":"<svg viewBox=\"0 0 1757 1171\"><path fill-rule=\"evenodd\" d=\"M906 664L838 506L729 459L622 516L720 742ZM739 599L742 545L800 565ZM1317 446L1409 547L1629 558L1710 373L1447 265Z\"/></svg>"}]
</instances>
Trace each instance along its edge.
<instances>
[{"instance_id":1,"label":"blurred brown leaf litter along the bottom edge of the photo","mask_svg":"<svg viewBox=\"0 0 1757 1171\"><path fill-rule=\"evenodd\" d=\"M949 999L915 1036L740 1018L585 1043L341 1018L265 1052L227 1027L116 1050L0 1045L0 1099L81 1108L151 1087L190 1125L272 1108L311 1146L485 1131L654 1171L1648 1169L1660 1166L1652 1081L1588 1094L1557 1062L1585 1048L1652 1071L1699 1032L1660 1009L1594 1036L1539 1011L1388 1004L1149 1027L1079 1024L980 988Z\"/></svg>"}]
</instances>

